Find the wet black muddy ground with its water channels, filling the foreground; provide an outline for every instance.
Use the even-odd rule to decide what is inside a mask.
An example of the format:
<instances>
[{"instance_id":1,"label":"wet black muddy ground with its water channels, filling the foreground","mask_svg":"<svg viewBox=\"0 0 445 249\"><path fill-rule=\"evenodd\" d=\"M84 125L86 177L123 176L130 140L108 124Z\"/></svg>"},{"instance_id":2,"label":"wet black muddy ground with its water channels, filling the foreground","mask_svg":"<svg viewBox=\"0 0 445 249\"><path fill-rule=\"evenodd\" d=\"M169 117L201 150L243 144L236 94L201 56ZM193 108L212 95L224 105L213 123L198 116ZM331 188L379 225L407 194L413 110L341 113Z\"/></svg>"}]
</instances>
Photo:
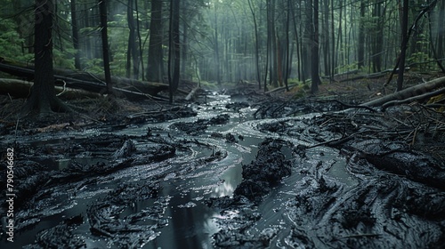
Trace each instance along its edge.
<instances>
[{"instance_id":1,"label":"wet black muddy ground with its water channels, filling the foreground","mask_svg":"<svg viewBox=\"0 0 445 249\"><path fill-rule=\"evenodd\" d=\"M443 113L223 93L78 100L95 108L40 123L3 100L0 246L445 248Z\"/></svg>"}]
</instances>

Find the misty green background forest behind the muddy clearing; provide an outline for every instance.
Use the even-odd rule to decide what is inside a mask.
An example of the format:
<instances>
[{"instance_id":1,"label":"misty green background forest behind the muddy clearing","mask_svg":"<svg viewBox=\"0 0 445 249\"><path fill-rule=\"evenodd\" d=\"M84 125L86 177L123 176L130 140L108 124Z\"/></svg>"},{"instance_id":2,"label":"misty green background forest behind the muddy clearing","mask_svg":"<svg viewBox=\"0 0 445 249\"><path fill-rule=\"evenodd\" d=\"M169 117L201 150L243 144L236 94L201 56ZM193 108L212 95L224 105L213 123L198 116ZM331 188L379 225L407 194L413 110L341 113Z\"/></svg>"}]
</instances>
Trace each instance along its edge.
<instances>
[{"instance_id":1,"label":"misty green background forest behind the muddy clearing","mask_svg":"<svg viewBox=\"0 0 445 249\"><path fill-rule=\"evenodd\" d=\"M320 76L393 68L401 50L400 1L105 2L106 23L101 23L101 1L61 0L54 5L55 67L102 74L109 64L110 75L155 82L166 82L166 69L173 67L173 88L179 78L210 83L247 80L263 82L264 87L311 79L316 92ZM408 27L433 2L409 1ZM0 56L20 63L33 60L34 1L0 3ZM444 10L443 1L437 1L417 20L406 50L405 65L411 70L438 70L444 60ZM108 63L101 41L105 24ZM169 51L174 55L171 61Z\"/></svg>"}]
</instances>

